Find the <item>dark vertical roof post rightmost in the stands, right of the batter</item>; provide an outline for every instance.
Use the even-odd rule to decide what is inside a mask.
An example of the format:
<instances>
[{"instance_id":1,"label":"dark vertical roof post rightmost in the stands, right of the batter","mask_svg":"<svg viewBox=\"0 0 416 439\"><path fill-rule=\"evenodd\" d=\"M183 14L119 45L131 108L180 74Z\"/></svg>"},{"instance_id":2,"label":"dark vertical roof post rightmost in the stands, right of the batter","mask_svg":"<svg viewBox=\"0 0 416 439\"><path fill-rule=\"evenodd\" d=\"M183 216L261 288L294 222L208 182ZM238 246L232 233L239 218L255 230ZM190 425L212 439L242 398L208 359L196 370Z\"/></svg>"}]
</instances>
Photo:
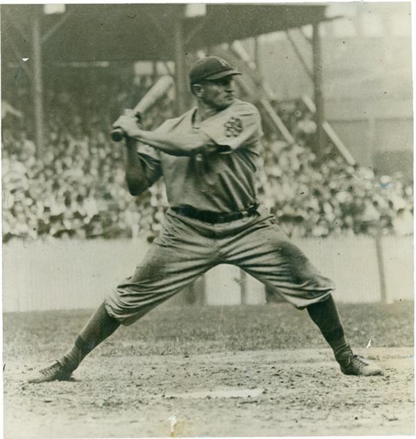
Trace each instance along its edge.
<instances>
[{"instance_id":1,"label":"dark vertical roof post rightmost in the stands, right of the batter","mask_svg":"<svg viewBox=\"0 0 416 439\"><path fill-rule=\"evenodd\" d=\"M318 159L322 159L324 152L324 99L322 96L322 50L319 35L319 21L313 24L312 53L313 53L313 98L316 105L316 143Z\"/></svg>"}]
</instances>

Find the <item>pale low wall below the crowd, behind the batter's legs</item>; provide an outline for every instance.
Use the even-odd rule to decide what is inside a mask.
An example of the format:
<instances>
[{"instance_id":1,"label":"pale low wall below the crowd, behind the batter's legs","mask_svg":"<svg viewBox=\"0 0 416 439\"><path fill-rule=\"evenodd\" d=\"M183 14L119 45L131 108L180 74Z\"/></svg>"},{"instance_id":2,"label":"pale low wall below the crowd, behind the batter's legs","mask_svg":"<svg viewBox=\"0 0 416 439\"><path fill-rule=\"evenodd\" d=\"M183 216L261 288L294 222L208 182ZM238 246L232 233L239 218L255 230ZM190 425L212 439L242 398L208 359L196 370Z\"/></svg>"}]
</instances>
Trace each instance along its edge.
<instances>
[{"instance_id":1,"label":"pale low wall below the crowd, behind the batter's legs","mask_svg":"<svg viewBox=\"0 0 416 439\"><path fill-rule=\"evenodd\" d=\"M374 238L293 242L336 281L338 302L413 299L413 237L385 237L379 246ZM132 274L148 247L145 239L12 240L3 244L3 311L94 308ZM209 305L266 301L263 285L236 267L215 267L204 280L198 283L199 303L202 296ZM180 296L171 300L180 303Z\"/></svg>"}]
</instances>

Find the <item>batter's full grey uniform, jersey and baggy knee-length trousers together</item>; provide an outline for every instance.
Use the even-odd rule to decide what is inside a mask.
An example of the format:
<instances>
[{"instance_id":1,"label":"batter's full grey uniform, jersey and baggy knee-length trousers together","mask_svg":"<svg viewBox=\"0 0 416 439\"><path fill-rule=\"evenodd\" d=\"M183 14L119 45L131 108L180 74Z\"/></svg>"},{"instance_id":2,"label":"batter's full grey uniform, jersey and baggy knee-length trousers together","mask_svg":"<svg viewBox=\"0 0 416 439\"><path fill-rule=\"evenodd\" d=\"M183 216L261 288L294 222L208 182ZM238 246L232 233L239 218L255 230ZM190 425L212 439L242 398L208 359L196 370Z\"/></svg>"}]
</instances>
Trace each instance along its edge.
<instances>
[{"instance_id":1,"label":"batter's full grey uniform, jersey and baggy knee-length trousers together","mask_svg":"<svg viewBox=\"0 0 416 439\"><path fill-rule=\"evenodd\" d=\"M275 217L258 207L262 132L256 107L236 100L198 125L196 111L167 120L158 131L200 131L223 148L202 157L139 146L148 185L163 174L170 208L135 273L107 297L107 313L130 325L218 264L241 267L298 308L327 298L331 280L288 240Z\"/></svg>"}]
</instances>

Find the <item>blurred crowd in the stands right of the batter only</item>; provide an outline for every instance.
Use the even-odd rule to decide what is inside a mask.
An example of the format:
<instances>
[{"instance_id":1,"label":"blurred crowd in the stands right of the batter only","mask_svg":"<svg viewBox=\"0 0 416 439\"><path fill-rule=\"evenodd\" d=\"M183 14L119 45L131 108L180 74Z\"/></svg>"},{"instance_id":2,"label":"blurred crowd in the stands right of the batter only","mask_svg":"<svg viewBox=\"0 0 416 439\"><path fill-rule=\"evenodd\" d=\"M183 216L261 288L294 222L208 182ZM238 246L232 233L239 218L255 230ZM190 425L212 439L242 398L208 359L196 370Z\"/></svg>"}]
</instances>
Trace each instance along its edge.
<instances>
[{"instance_id":1,"label":"blurred crowd in the stands right of the batter only","mask_svg":"<svg viewBox=\"0 0 416 439\"><path fill-rule=\"evenodd\" d=\"M270 138L261 176L264 201L291 236L413 233L413 189L399 174L376 176L330 154Z\"/></svg>"}]
</instances>

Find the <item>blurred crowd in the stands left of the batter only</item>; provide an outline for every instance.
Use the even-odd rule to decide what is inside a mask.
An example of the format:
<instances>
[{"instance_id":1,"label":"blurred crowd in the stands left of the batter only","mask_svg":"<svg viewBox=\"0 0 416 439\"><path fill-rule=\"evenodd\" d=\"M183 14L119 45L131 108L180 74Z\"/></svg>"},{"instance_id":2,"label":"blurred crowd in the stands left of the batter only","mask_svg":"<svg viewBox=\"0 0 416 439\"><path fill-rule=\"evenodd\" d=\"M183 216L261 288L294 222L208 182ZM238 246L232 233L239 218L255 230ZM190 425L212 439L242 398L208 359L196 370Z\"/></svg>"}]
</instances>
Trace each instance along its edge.
<instances>
[{"instance_id":1,"label":"blurred crowd in the stands left of the batter only","mask_svg":"<svg viewBox=\"0 0 416 439\"><path fill-rule=\"evenodd\" d=\"M135 82L130 91L137 100L151 81ZM132 197L124 183L123 148L110 141L112 120L130 105L124 91L98 84L96 99L72 92L46 92L40 154L28 138L26 118L3 115L3 240L154 235L166 204L162 183ZM143 122L155 127L171 116L166 97Z\"/></svg>"}]
</instances>

